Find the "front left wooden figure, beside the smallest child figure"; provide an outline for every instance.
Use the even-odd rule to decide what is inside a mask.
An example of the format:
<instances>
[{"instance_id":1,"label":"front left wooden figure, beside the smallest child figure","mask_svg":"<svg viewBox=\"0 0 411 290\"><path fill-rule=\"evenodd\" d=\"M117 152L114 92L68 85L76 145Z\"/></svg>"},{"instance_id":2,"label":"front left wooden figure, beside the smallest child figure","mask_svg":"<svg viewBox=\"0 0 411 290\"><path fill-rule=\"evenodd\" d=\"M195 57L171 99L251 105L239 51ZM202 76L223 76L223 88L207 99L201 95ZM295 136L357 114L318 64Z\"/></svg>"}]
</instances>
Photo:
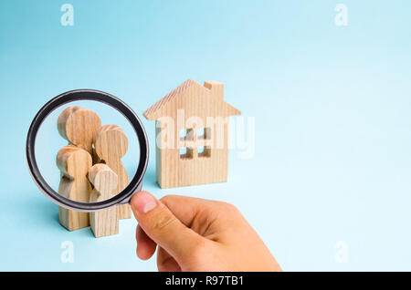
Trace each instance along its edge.
<instances>
[{"instance_id":1,"label":"front left wooden figure, beside the smallest child figure","mask_svg":"<svg viewBox=\"0 0 411 290\"><path fill-rule=\"evenodd\" d=\"M92 166L88 151L68 145L58 151L58 169L61 172L58 193L76 202L89 202L91 186L87 174ZM69 231L90 225L88 212L75 212L58 207L58 218Z\"/></svg>"}]
</instances>

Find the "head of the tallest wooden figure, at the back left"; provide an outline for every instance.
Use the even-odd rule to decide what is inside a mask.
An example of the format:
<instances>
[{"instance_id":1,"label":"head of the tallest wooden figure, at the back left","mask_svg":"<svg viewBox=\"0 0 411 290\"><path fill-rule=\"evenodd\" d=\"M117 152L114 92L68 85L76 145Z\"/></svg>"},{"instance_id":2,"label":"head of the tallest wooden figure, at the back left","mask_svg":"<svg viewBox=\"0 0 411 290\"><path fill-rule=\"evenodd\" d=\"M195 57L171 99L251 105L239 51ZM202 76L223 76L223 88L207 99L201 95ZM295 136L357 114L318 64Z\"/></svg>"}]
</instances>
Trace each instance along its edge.
<instances>
[{"instance_id":1,"label":"head of the tallest wooden figure, at the back left","mask_svg":"<svg viewBox=\"0 0 411 290\"><path fill-rule=\"evenodd\" d=\"M58 116L58 132L69 144L87 150L94 155L92 142L101 127L100 117L90 109L72 106Z\"/></svg>"}]
</instances>

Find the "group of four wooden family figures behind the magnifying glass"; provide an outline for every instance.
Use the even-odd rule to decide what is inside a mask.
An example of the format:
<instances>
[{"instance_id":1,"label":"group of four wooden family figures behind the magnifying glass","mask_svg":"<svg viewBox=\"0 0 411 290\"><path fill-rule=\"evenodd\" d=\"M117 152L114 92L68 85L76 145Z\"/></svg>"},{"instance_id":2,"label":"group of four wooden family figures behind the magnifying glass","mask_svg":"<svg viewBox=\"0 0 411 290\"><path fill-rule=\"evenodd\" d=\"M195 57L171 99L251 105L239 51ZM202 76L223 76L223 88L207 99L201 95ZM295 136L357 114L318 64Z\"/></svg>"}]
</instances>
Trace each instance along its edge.
<instances>
[{"instance_id":1,"label":"group of four wooden family figures behind the magnifying glass","mask_svg":"<svg viewBox=\"0 0 411 290\"><path fill-rule=\"evenodd\" d=\"M68 145L58 151L61 172L58 193L76 202L102 202L120 193L129 177L121 162L128 139L116 125L101 127L90 109L68 107L58 117L58 132ZM99 212L76 212L58 207L61 225L69 231L90 225L96 237L119 232L119 219L132 217L129 204Z\"/></svg>"}]
</instances>

